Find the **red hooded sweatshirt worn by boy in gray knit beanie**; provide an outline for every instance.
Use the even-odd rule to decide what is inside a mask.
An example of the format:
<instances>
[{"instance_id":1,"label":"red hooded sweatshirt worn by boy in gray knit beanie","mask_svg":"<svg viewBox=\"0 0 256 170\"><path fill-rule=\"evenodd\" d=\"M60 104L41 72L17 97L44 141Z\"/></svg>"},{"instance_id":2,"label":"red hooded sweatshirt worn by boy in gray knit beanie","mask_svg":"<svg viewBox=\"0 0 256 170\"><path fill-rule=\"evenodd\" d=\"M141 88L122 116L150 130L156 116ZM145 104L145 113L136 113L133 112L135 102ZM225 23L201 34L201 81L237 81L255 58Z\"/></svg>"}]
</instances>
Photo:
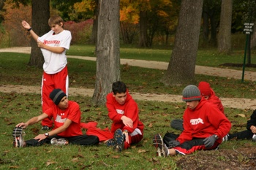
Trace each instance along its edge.
<instances>
[{"instance_id":1,"label":"red hooded sweatshirt worn by boy in gray knit beanie","mask_svg":"<svg viewBox=\"0 0 256 170\"><path fill-rule=\"evenodd\" d=\"M201 99L195 109L187 108L183 115L184 131L178 136L177 140L181 144L193 138L206 138L217 134L222 142L231 128L231 123L219 109L205 99Z\"/></svg>"}]
</instances>

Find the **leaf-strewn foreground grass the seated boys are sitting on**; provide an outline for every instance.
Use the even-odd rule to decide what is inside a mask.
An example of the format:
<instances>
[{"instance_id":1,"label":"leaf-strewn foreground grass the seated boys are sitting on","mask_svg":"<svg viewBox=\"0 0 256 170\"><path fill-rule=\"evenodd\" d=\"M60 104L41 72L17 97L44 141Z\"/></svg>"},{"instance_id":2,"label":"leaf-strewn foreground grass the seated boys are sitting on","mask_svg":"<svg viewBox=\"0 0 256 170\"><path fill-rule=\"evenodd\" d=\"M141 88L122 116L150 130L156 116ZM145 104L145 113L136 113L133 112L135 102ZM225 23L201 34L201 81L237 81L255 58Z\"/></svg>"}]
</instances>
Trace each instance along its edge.
<instances>
[{"instance_id":1,"label":"leaf-strewn foreground grass the seated boys are sitting on","mask_svg":"<svg viewBox=\"0 0 256 170\"><path fill-rule=\"evenodd\" d=\"M31 93L0 93L0 169L176 169L176 161L184 157L178 155L173 158L157 158L151 144L154 134L164 135L167 131L176 134L179 131L170 128L170 120L181 118L184 112L184 103L138 101L140 120L145 125L143 141L133 145L129 150L121 153L113 152L104 144L92 147L69 145L56 147L45 144L40 147L13 148L12 128L30 117L40 114L41 105L39 94ZM97 120L99 128L111 125L105 107L94 107L89 97L75 96L69 100L77 101L82 111L82 122ZM229 120L233 123L232 132L245 129L246 120L252 114L250 110L225 109ZM238 114L244 114L240 117ZM25 139L31 139L42 134L39 123L26 128ZM222 144L220 149L232 150L243 147L243 143L254 144L249 141L229 141ZM200 152L195 152L195 155Z\"/></svg>"}]
</instances>

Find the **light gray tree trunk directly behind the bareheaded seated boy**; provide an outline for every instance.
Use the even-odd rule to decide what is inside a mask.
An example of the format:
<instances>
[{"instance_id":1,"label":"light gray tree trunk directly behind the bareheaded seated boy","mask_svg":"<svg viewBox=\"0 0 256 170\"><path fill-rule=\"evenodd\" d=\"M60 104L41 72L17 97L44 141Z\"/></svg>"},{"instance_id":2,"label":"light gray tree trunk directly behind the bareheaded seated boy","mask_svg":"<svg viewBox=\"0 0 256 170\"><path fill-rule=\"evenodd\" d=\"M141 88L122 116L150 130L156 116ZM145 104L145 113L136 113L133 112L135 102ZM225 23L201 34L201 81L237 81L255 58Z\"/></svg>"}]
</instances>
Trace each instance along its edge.
<instances>
[{"instance_id":1,"label":"light gray tree trunk directly behind the bareheaded seated boy","mask_svg":"<svg viewBox=\"0 0 256 170\"><path fill-rule=\"evenodd\" d=\"M120 80L119 1L99 0L97 73L92 101L105 104L112 83Z\"/></svg>"}]
</instances>

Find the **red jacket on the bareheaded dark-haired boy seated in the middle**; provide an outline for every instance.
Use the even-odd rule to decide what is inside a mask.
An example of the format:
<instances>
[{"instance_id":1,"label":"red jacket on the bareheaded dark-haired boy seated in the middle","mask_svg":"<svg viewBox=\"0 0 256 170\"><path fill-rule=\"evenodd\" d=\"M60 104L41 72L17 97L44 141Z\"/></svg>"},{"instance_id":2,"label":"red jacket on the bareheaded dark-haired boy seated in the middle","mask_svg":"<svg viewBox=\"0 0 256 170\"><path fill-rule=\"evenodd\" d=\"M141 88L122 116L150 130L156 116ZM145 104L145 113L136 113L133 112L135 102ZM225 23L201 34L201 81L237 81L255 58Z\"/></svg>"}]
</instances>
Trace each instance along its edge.
<instances>
[{"instance_id":1,"label":"red jacket on the bareheaded dark-haired boy seated in the middle","mask_svg":"<svg viewBox=\"0 0 256 170\"><path fill-rule=\"evenodd\" d=\"M111 126L111 132L115 132L116 129L121 128L122 131L127 130L129 133L135 131L135 128L140 129L141 133L143 134L143 123L139 120L139 109L138 104L129 95L127 90L127 99L123 105L118 104L116 98L113 97L113 93L109 93L107 95L107 102L106 106L108 108L108 116L111 120L113 120ZM128 126L124 126L124 123L121 120L122 116L127 116L133 121L133 128L129 128Z\"/></svg>"}]
</instances>

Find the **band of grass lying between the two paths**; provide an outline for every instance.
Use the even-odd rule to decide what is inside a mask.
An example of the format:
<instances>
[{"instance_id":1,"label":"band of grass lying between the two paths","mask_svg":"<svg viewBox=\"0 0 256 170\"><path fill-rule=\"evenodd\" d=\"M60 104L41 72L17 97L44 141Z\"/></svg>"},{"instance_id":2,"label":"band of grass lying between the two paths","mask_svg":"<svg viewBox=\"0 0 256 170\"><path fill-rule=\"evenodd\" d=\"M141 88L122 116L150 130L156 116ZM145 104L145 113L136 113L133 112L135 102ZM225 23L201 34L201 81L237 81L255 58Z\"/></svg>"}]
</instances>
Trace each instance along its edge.
<instances>
[{"instance_id":1,"label":"band of grass lying between the two paths","mask_svg":"<svg viewBox=\"0 0 256 170\"><path fill-rule=\"evenodd\" d=\"M27 66L28 54L0 53L0 85L41 85L42 69ZM96 62L68 59L69 87L94 88ZM121 66L121 80L129 90L140 93L181 94L186 85L165 86L159 80L165 71ZM219 97L255 98L255 82L196 74L197 82L207 81Z\"/></svg>"}]
</instances>

